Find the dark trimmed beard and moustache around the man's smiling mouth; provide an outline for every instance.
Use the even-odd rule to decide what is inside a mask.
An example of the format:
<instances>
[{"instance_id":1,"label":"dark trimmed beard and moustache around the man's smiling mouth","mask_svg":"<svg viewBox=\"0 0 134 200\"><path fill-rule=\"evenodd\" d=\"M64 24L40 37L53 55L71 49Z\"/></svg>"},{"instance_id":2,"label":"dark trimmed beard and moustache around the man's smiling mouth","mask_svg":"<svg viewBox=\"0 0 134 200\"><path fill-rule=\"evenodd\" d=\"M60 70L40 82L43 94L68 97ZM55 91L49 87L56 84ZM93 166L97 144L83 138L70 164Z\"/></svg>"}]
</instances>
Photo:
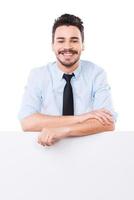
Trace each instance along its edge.
<instances>
[{"instance_id":1,"label":"dark trimmed beard and moustache around the man's smiling mouth","mask_svg":"<svg viewBox=\"0 0 134 200\"><path fill-rule=\"evenodd\" d=\"M73 56L77 55L77 57L73 58L73 59L69 59L69 58L64 58L64 53L71 53ZM60 58L60 55L63 57ZM63 50L63 51L59 51L58 55L57 55L57 60L65 67L67 68L71 68L74 64L76 64L80 59L80 55L77 51L69 49L69 50Z\"/></svg>"}]
</instances>

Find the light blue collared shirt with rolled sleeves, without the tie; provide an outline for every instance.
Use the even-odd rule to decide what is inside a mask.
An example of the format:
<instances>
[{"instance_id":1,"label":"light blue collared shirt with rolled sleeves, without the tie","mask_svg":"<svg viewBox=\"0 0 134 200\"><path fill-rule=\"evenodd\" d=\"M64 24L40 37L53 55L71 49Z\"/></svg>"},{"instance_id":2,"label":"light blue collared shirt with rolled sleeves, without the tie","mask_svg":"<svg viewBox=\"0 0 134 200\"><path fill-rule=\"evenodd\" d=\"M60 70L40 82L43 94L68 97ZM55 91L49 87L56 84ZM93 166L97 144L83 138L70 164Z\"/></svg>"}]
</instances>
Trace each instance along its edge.
<instances>
[{"instance_id":1,"label":"light blue collared shirt with rolled sleeves, without the tie","mask_svg":"<svg viewBox=\"0 0 134 200\"><path fill-rule=\"evenodd\" d=\"M66 84L63 73L56 62L31 70L19 112L20 120L34 113L62 115ZM71 79L74 114L106 108L116 119L105 71L89 61L81 60L74 75Z\"/></svg>"}]
</instances>

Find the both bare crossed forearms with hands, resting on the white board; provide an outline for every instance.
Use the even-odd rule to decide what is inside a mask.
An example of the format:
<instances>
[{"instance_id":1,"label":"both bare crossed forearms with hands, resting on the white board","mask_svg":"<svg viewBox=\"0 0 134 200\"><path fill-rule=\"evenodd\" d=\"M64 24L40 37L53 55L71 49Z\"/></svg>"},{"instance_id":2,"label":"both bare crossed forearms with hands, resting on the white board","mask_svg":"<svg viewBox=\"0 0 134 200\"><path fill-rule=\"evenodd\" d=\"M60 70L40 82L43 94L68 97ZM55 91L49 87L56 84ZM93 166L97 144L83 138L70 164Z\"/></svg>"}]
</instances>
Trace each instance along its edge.
<instances>
[{"instance_id":1,"label":"both bare crossed forearms with hands, resting on the white board","mask_svg":"<svg viewBox=\"0 0 134 200\"><path fill-rule=\"evenodd\" d=\"M84 136L115 128L112 114L99 109L75 116L50 116L35 113L21 121L24 131L39 131L38 143L53 145L66 137Z\"/></svg>"}]
</instances>

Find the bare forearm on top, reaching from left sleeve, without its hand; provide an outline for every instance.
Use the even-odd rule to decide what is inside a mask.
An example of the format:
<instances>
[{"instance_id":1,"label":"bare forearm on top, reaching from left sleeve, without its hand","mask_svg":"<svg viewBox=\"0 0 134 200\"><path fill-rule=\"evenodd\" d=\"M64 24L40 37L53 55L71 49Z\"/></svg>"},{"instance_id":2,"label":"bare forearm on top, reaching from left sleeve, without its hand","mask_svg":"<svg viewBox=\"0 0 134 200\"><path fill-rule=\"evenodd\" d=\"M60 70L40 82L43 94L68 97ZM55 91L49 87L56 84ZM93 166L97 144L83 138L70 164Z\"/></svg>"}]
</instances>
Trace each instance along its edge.
<instances>
[{"instance_id":1,"label":"bare forearm on top, reaching from left sleeve, without its hand","mask_svg":"<svg viewBox=\"0 0 134 200\"><path fill-rule=\"evenodd\" d=\"M82 116L50 116L36 113L24 118L21 126L24 131L41 131L43 128L58 128L62 126L71 126L86 120Z\"/></svg>"}]
</instances>

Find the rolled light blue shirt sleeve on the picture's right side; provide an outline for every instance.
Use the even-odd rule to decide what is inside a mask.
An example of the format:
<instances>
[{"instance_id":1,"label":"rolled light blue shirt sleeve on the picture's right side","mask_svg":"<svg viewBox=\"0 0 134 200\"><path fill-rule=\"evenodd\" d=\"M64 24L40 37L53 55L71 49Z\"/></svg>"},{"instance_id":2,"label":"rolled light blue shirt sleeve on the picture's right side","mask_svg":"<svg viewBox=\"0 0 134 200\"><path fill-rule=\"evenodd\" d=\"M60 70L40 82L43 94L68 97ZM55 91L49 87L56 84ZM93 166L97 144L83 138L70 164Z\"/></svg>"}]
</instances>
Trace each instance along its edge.
<instances>
[{"instance_id":1,"label":"rolled light blue shirt sleeve on the picture's right side","mask_svg":"<svg viewBox=\"0 0 134 200\"><path fill-rule=\"evenodd\" d=\"M109 110L114 120L117 120L117 113L114 111L112 97L111 97L111 87L107 82L107 75L103 69L95 75L94 85L93 85L93 109L105 108Z\"/></svg>"}]
</instances>

